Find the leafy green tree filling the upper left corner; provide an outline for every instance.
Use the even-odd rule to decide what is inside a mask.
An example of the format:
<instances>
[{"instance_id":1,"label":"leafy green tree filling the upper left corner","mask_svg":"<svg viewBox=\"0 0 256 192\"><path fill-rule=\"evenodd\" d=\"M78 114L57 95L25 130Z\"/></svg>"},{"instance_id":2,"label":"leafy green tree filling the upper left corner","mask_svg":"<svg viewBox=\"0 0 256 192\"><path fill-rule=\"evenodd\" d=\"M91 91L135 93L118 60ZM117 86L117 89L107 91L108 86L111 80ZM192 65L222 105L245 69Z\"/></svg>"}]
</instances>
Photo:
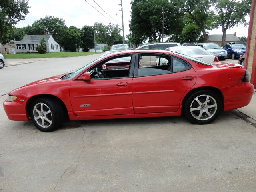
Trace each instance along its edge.
<instances>
[{"instance_id":1,"label":"leafy green tree filling the upper left corner","mask_svg":"<svg viewBox=\"0 0 256 192\"><path fill-rule=\"evenodd\" d=\"M0 42L10 28L26 18L29 8L28 0L0 1Z\"/></svg>"}]
</instances>

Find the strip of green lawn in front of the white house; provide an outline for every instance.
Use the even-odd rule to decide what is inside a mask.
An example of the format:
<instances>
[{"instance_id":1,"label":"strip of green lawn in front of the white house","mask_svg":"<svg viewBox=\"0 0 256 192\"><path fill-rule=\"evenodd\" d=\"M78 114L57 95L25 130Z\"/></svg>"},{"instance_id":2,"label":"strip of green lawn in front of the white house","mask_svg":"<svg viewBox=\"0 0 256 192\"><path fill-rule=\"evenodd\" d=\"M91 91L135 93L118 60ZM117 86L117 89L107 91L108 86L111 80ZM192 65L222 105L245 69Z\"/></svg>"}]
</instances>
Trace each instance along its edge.
<instances>
[{"instance_id":1,"label":"strip of green lawn in front of the white house","mask_svg":"<svg viewBox=\"0 0 256 192\"><path fill-rule=\"evenodd\" d=\"M19 53L19 54L5 54L4 58L6 59L15 59L15 58L46 58L46 57L75 57L75 56L84 56L92 54L101 54L101 52L54 52L54 53Z\"/></svg>"}]
</instances>

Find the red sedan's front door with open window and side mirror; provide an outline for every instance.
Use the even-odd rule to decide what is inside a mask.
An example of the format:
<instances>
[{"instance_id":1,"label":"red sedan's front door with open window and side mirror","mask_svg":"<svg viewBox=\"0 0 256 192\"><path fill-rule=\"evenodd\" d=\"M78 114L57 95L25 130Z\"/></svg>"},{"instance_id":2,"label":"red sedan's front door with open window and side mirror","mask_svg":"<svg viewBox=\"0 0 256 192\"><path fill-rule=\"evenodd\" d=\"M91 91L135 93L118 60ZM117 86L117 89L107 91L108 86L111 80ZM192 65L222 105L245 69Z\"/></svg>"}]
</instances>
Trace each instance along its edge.
<instances>
[{"instance_id":1,"label":"red sedan's front door with open window and side mirror","mask_svg":"<svg viewBox=\"0 0 256 192\"><path fill-rule=\"evenodd\" d=\"M104 60L89 69L91 80L74 80L70 86L70 100L76 116L134 114L132 107L132 79L135 56L122 55ZM110 69L102 66L111 63ZM124 65L126 66L124 68ZM94 75L95 69L104 75Z\"/></svg>"}]
</instances>

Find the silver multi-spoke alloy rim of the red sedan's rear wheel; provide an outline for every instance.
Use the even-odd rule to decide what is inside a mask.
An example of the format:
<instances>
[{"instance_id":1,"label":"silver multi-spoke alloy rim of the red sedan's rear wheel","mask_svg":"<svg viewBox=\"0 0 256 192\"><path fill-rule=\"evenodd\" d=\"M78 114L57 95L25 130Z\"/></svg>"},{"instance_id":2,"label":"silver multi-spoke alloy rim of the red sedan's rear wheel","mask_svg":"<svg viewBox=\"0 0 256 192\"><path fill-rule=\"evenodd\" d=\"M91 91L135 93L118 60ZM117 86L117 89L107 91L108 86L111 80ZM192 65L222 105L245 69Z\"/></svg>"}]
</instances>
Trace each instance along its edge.
<instances>
[{"instance_id":1,"label":"silver multi-spoke alloy rim of the red sedan's rear wheel","mask_svg":"<svg viewBox=\"0 0 256 192\"><path fill-rule=\"evenodd\" d=\"M217 111L217 102L210 95L199 95L191 102L190 113L197 120L208 120Z\"/></svg>"}]
</instances>

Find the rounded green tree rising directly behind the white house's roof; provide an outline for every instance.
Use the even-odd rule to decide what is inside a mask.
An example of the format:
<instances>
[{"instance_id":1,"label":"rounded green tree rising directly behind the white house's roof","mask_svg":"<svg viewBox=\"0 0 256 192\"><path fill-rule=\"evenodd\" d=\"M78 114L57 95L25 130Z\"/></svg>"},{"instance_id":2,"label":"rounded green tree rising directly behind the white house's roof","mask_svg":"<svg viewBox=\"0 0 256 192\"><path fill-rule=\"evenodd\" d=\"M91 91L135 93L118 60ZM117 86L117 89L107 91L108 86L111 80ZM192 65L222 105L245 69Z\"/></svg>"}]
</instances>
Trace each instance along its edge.
<instances>
[{"instance_id":1,"label":"rounded green tree rising directly behind the white house's roof","mask_svg":"<svg viewBox=\"0 0 256 192\"><path fill-rule=\"evenodd\" d=\"M33 35L42 35L44 32L47 32L53 36L54 40L56 40L61 47L64 47L66 42L67 29L65 20L54 16L40 18L32 24Z\"/></svg>"}]
</instances>

